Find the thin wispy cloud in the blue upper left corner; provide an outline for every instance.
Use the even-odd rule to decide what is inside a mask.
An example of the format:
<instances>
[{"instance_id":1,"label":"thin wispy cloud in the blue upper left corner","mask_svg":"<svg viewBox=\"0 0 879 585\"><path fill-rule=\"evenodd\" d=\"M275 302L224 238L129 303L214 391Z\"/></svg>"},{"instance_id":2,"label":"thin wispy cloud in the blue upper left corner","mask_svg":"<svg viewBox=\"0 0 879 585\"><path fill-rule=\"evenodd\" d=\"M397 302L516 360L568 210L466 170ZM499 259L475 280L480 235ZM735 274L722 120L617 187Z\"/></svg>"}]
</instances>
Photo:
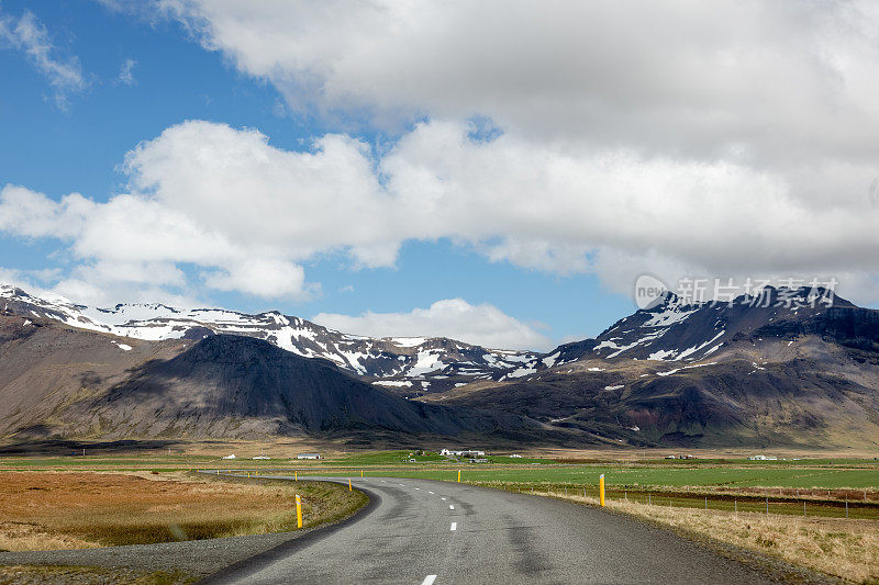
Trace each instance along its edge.
<instances>
[{"instance_id":1,"label":"thin wispy cloud in the blue upper left corner","mask_svg":"<svg viewBox=\"0 0 879 585\"><path fill-rule=\"evenodd\" d=\"M75 56L58 58L48 31L32 12L25 10L21 16L14 18L0 10L0 47L4 44L27 56L55 89L55 103L62 110L67 109L70 93L86 88L79 59Z\"/></svg>"}]
</instances>

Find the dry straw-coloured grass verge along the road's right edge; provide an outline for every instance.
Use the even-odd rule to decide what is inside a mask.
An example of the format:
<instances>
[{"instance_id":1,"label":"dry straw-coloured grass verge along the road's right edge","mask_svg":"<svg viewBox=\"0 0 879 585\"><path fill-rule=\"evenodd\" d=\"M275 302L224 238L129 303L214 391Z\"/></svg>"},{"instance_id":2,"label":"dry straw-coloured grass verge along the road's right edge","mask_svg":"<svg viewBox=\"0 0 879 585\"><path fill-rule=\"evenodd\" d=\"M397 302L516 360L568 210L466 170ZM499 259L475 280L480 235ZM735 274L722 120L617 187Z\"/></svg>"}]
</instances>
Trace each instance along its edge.
<instances>
[{"instance_id":1,"label":"dry straw-coloured grass verge along the road's right edge","mask_svg":"<svg viewBox=\"0 0 879 585\"><path fill-rule=\"evenodd\" d=\"M564 499L599 504L593 497ZM607 504L611 509L700 540L720 540L854 583L879 583L879 521L876 520L735 514L620 500Z\"/></svg>"}]
</instances>

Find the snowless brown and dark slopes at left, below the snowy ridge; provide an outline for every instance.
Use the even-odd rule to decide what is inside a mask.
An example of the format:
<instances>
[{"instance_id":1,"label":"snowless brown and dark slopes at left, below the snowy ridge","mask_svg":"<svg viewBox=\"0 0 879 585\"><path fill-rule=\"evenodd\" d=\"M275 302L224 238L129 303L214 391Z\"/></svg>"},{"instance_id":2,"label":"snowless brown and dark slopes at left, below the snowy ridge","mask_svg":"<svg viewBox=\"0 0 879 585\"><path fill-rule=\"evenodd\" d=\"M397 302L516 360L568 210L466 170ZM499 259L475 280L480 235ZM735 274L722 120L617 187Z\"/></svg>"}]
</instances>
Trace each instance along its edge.
<instances>
[{"instance_id":1,"label":"snowless brown and dark slopes at left, below the snowy ridge","mask_svg":"<svg viewBox=\"0 0 879 585\"><path fill-rule=\"evenodd\" d=\"M0 435L375 442L518 440L542 428L519 415L408 401L332 362L253 337L131 342L53 320L0 315Z\"/></svg>"}]
</instances>

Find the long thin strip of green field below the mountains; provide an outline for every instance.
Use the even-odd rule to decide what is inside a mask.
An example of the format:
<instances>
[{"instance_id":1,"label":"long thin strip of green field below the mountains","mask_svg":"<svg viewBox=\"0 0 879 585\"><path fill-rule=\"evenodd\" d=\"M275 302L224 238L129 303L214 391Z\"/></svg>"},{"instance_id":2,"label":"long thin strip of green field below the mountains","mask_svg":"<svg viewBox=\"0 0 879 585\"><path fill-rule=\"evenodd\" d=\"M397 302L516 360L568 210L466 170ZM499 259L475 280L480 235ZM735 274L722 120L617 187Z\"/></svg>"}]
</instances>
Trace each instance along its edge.
<instances>
[{"instance_id":1,"label":"long thin strip of green field below the mountains","mask_svg":"<svg viewBox=\"0 0 879 585\"><path fill-rule=\"evenodd\" d=\"M410 455L410 453L412 453ZM414 462L409 462L414 459ZM364 451L321 461L221 460L211 455L142 454L77 457L3 457L1 470L292 470L301 474L348 476L388 475L454 481L457 470L468 482L594 486L604 474L609 486L736 491L747 488L867 490L879 492L879 461L871 459L645 460L624 463L564 463L549 459L489 455L488 463L458 462L437 453Z\"/></svg>"}]
</instances>

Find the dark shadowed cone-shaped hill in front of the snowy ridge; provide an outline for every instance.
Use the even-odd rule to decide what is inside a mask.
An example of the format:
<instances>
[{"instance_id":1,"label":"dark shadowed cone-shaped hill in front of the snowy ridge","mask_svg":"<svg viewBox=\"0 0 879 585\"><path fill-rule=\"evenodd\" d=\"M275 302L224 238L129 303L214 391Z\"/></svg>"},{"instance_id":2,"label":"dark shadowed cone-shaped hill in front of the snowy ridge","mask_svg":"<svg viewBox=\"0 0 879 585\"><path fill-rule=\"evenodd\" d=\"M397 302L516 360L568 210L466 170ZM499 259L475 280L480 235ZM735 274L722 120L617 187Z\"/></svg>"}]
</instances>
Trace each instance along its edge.
<instances>
[{"instance_id":1,"label":"dark shadowed cone-shaped hill in front of the snowy ridge","mask_svg":"<svg viewBox=\"0 0 879 585\"><path fill-rule=\"evenodd\" d=\"M66 395L43 415L21 430L103 439L461 434L514 438L538 428L516 415L405 401L324 360L226 335L202 339L170 359L148 360L104 391Z\"/></svg>"}]
</instances>

